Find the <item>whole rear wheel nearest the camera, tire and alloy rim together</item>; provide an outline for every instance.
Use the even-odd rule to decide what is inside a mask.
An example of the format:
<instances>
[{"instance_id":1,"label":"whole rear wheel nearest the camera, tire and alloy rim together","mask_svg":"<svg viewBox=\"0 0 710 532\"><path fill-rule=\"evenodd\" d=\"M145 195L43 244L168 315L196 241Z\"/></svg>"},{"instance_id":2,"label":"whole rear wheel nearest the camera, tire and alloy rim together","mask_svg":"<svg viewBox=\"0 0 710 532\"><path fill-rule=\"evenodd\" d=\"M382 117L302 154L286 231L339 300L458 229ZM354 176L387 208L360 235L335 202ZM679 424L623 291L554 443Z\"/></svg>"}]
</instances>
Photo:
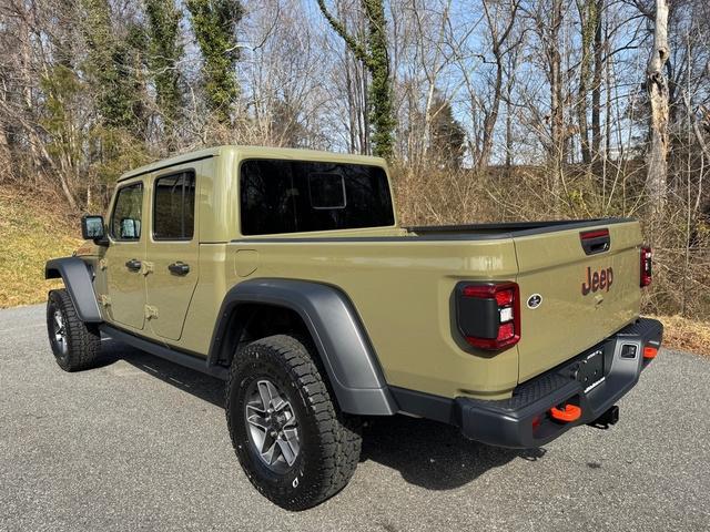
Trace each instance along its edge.
<instances>
[{"instance_id":1,"label":"whole rear wheel nearest the camera, tire and alloy rim together","mask_svg":"<svg viewBox=\"0 0 710 532\"><path fill-rule=\"evenodd\" d=\"M337 493L359 460L357 420L338 411L311 352L291 336L262 338L236 355L226 420L250 481L287 510Z\"/></svg>"}]
</instances>

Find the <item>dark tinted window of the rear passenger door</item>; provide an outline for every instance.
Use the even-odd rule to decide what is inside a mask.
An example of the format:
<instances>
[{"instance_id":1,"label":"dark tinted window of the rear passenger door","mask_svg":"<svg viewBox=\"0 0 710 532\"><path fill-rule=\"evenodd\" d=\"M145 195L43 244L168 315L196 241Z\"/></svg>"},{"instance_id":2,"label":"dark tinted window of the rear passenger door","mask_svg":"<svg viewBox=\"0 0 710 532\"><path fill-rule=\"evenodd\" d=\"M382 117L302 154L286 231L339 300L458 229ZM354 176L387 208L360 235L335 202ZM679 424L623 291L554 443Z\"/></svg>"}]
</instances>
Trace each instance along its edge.
<instances>
[{"instance_id":1,"label":"dark tinted window of the rear passenger door","mask_svg":"<svg viewBox=\"0 0 710 532\"><path fill-rule=\"evenodd\" d=\"M153 238L189 241L195 226L195 174L181 172L155 180Z\"/></svg>"}]
</instances>

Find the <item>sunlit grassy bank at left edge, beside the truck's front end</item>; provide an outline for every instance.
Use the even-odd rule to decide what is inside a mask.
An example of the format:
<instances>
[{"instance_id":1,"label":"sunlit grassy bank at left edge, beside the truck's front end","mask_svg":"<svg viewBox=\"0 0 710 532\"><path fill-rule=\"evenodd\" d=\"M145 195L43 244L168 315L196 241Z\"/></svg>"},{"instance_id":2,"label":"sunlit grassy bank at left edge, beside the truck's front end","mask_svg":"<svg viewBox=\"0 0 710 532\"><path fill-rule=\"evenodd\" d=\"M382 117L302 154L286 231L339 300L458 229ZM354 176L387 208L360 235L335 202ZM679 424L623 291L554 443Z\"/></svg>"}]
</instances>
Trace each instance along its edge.
<instances>
[{"instance_id":1,"label":"sunlit grassy bank at left edge, beside the truck's front end","mask_svg":"<svg viewBox=\"0 0 710 532\"><path fill-rule=\"evenodd\" d=\"M79 247L79 221L53 193L27 194L0 185L0 308L47 299L61 283L44 280L44 263Z\"/></svg>"}]
</instances>

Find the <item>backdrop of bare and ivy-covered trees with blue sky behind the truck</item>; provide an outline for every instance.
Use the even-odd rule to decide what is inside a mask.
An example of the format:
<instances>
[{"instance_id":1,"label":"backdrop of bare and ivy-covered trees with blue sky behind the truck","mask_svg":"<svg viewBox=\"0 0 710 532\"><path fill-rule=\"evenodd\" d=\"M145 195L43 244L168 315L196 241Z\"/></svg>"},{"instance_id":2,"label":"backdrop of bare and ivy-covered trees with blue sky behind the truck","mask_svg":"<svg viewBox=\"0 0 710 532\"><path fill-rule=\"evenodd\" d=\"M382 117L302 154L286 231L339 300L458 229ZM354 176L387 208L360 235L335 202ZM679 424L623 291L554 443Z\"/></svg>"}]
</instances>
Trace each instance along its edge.
<instances>
[{"instance_id":1,"label":"backdrop of bare and ivy-covered trees with blue sky behind the truck","mask_svg":"<svg viewBox=\"0 0 710 532\"><path fill-rule=\"evenodd\" d=\"M648 309L710 311L708 0L237 6L0 0L0 186L81 211L221 142L392 153L407 223L637 216Z\"/></svg>"}]
</instances>

